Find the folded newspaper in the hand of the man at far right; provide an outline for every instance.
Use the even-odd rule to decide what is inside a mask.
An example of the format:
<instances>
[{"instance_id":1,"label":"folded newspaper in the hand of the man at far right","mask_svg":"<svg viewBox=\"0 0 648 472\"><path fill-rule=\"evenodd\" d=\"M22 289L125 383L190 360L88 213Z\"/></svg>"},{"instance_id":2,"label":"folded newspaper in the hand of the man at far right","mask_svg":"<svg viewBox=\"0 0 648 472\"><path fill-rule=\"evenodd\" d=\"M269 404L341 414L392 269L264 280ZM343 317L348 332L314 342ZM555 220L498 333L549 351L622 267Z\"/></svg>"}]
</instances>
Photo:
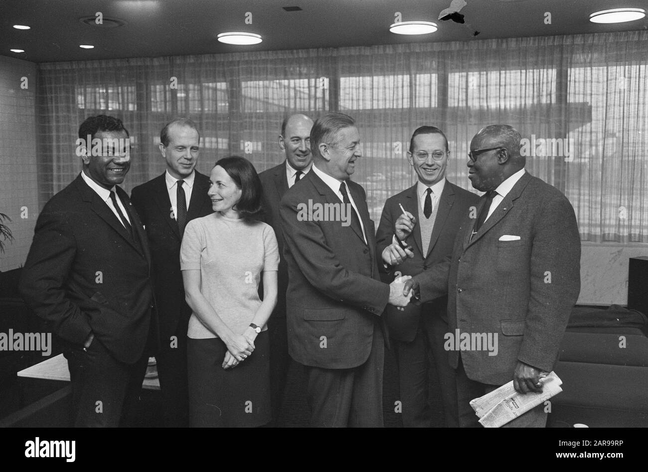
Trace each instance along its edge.
<instances>
[{"instance_id":1,"label":"folded newspaper in the hand of the man at far right","mask_svg":"<svg viewBox=\"0 0 648 472\"><path fill-rule=\"evenodd\" d=\"M470 406L480 417L483 427L499 428L562 392L562 381L554 372L540 376L540 382L542 392L520 394L513 388L513 381L510 381L483 397L470 400Z\"/></svg>"}]
</instances>

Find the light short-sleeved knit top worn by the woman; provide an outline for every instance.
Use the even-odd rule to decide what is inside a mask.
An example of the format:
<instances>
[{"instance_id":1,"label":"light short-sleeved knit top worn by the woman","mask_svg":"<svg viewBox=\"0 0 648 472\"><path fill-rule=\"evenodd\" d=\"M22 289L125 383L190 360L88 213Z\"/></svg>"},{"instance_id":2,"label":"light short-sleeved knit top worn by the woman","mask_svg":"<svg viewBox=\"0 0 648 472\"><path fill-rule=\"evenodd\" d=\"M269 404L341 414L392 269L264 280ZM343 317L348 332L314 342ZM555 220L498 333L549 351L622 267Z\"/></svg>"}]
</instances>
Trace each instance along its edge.
<instances>
[{"instance_id":1,"label":"light short-sleeved knit top worn by the woman","mask_svg":"<svg viewBox=\"0 0 648 472\"><path fill-rule=\"evenodd\" d=\"M251 218L238 220L214 212L191 220L182 238L181 270L200 270L200 292L234 333L241 335L261 305L264 270L277 270L279 249L272 227ZM263 327L266 330L267 327ZM191 314L187 336L217 338Z\"/></svg>"}]
</instances>

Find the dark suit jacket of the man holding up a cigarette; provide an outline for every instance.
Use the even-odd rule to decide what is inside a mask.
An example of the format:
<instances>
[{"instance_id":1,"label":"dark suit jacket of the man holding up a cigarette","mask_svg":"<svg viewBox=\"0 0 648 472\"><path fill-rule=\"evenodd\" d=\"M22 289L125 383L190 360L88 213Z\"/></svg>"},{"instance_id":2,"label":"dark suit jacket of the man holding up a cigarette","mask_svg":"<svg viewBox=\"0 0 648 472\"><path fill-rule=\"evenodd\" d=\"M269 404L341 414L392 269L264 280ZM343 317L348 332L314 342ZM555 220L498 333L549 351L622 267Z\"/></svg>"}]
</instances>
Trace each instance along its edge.
<instances>
[{"instance_id":1,"label":"dark suit jacket of the man holding up a cigarette","mask_svg":"<svg viewBox=\"0 0 648 472\"><path fill-rule=\"evenodd\" d=\"M389 283L398 275L415 276L452 254L452 246L459 226L463 219L469 215L470 207L476 207L479 200L480 198L474 193L446 181L439 199L430 246L426 248L426 253L423 252L421 231L417 224L406 239L406 242L412 246L414 257L406 259L398 266L390 267L384 280ZM382 252L391 244L396 220L402 215L399 204L419 221L420 204L419 196L417 196L417 184L391 196L385 202L376 233L376 257L378 257L378 267L380 268L384 267ZM425 313L426 316L441 316L443 320L447 320L446 309L447 298L443 296L425 305L410 303L405 311L398 311L396 307L388 305L383 318L386 320L389 334L393 338L411 342L416 335L421 313Z\"/></svg>"}]
</instances>

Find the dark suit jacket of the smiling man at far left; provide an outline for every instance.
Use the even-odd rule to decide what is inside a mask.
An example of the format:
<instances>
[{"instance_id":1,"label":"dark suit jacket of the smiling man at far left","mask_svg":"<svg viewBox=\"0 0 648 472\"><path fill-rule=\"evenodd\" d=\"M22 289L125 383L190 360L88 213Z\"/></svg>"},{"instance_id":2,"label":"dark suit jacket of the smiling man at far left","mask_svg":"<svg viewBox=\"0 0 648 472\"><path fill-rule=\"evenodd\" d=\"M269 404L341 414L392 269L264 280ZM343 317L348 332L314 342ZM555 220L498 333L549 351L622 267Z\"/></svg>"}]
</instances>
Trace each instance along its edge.
<instances>
[{"instance_id":1,"label":"dark suit jacket of the smiling man at far left","mask_svg":"<svg viewBox=\"0 0 648 472\"><path fill-rule=\"evenodd\" d=\"M115 191L135 239L79 174L38 216L20 292L67 342L83 344L93 331L93 342L133 363L145 349L154 300L150 254L128 195Z\"/></svg>"}]
</instances>

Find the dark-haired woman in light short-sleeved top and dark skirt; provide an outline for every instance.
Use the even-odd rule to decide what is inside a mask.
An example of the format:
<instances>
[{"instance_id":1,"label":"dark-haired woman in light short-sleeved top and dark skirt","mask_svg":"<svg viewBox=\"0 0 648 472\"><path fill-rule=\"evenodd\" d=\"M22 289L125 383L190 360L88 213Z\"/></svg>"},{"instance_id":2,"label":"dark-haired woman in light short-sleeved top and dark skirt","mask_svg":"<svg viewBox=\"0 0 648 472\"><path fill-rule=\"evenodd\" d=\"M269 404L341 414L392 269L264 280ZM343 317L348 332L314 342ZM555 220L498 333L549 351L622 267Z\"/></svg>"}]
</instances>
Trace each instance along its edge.
<instances>
[{"instance_id":1,"label":"dark-haired woman in light short-sleeved top and dark skirt","mask_svg":"<svg viewBox=\"0 0 648 472\"><path fill-rule=\"evenodd\" d=\"M220 159L209 179L214 213L187 224L180 251L193 311L189 421L192 427L261 426L271 419L266 323L277 303L277 239L271 226L249 218L260 210L262 189L247 159Z\"/></svg>"}]
</instances>

